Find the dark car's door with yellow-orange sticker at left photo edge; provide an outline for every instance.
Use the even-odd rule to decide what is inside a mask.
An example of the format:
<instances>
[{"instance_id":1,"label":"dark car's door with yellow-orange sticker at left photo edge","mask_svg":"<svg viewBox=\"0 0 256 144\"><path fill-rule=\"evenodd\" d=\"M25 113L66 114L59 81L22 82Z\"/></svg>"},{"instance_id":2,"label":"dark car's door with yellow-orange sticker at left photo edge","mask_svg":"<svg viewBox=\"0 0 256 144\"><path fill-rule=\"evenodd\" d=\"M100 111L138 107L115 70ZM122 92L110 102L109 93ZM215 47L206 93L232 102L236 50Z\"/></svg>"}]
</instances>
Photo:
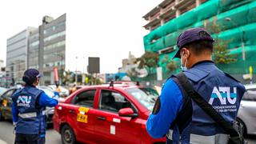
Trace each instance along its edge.
<instances>
[{"instance_id":1,"label":"dark car's door with yellow-orange sticker at left photo edge","mask_svg":"<svg viewBox=\"0 0 256 144\"><path fill-rule=\"evenodd\" d=\"M5 94L2 94L2 116L11 119L11 104L12 104L12 94L16 89L7 90Z\"/></svg>"}]
</instances>

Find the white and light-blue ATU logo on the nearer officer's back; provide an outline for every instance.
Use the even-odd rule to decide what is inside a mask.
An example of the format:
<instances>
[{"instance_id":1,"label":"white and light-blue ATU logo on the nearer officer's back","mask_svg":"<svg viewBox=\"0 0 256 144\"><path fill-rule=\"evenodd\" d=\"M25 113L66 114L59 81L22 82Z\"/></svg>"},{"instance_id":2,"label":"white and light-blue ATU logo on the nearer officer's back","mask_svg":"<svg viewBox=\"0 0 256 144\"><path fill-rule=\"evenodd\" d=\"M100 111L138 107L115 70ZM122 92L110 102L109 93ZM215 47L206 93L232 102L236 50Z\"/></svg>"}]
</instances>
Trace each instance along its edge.
<instances>
[{"instance_id":1,"label":"white and light-blue ATU logo on the nearer officer's back","mask_svg":"<svg viewBox=\"0 0 256 144\"><path fill-rule=\"evenodd\" d=\"M230 87L226 86L214 86L214 90L210 96L209 103L213 104L214 99L218 98L222 105L226 105L226 99L231 104L234 105L237 102L237 88L233 88L233 93L230 92Z\"/></svg>"}]
</instances>

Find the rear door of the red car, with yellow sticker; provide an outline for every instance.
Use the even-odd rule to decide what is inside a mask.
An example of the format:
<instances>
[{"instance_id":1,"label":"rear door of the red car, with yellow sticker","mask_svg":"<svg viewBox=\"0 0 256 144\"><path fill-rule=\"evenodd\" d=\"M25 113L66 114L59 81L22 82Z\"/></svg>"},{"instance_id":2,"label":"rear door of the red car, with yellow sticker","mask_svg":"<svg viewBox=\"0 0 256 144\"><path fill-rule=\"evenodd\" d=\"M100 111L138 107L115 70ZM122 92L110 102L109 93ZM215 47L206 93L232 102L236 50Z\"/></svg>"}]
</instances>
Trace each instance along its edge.
<instances>
[{"instance_id":1,"label":"rear door of the red car, with yellow sticker","mask_svg":"<svg viewBox=\"0 0 256 144\"><path fill-rule=\"evenodd\" d=\"M94 142L94 98L96 89L84 90L74 96L69 106L70 117L73 118L77 130L77 139L82 142Z\"/></svg>"}]
</instances>

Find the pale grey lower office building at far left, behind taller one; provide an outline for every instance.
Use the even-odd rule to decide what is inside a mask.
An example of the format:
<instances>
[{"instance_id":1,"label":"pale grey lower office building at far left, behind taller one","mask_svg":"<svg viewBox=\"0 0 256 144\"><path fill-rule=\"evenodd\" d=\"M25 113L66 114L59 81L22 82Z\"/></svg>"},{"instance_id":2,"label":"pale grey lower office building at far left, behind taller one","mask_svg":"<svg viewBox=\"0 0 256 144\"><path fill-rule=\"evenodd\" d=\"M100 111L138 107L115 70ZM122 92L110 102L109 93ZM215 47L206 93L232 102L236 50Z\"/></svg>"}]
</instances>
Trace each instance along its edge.
<instances>
[{"instance_id":1,"label":"pale grey lower office building at far left, behind taller one","mask_svg":"<svg viewBox=\"0 0 256 144\"><path fill-rule=\"evenodd\" d=\"M27 67L28 36L34 29L28 27L7 39L6 76L12 78L14 82L22 81L22 74Z\"/></svg>"}]
</instances>

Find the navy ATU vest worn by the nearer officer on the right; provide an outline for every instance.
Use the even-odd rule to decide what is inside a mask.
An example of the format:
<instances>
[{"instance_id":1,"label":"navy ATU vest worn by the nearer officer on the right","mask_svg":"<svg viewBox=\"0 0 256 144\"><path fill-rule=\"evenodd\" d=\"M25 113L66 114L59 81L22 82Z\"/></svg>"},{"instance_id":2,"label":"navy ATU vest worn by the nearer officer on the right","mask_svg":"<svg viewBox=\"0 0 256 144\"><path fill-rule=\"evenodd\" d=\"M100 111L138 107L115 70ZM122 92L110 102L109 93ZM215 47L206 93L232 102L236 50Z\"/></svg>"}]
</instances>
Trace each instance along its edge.
<instances>
[{"instance_id":1,"label":"navy ATU vest worn by the nearer officer on the right","mask_svg":"<svg viewBox=\"0 0 256 144\"><path fill-rule=\"evenodd\" d=\"M206 102L228 122L234 122L245 87L223 73L213 62L199 62L185 70L187 78ZM170 126L167 143L226 143L228 134L195 102L187 97L178 79L171 77L182 91L183 105Z\"/></svg>"}]
</instances>

